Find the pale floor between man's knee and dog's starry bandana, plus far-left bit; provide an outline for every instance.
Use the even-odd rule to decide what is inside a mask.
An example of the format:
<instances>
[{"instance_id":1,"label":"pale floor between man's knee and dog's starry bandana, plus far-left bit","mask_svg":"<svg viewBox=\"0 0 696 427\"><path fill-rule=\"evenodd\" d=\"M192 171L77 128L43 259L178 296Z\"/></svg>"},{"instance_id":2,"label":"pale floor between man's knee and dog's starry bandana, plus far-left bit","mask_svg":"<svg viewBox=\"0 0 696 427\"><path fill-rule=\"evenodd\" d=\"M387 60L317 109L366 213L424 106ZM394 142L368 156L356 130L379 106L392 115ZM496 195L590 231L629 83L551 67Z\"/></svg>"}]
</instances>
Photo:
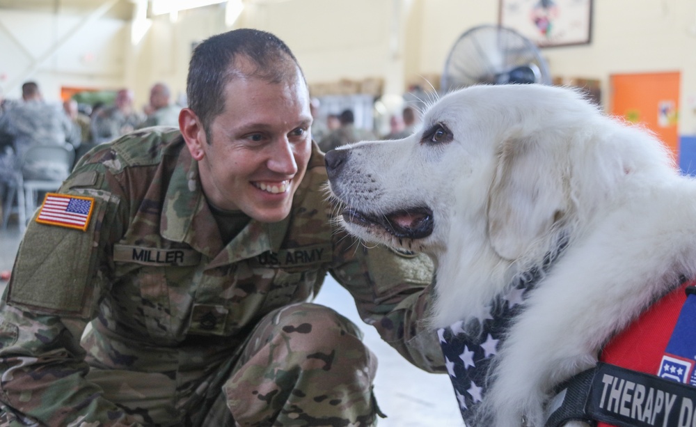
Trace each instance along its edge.
<instances>
[{"instance_id":1,"label":"pale floor between man's knee and dog's starry bandana, plus far-left bit","mask_svg":"<svg viewBox=\"0 0 696 427\"><path fill-rule=\"evenodd\" d=\"M10 219L8 228L0 230L0 271L12 268L20 239L17 224ZM5 285L0 281L0 290ZM326 278L315 302L333 307L361 327L365 343L377 355L374 392L379 407L388 416L379 420L379 427L464 426L448 376L420 371L406 362L374 328L362 322L349 293L333 278Z\"/></svg>"}]
</instances>

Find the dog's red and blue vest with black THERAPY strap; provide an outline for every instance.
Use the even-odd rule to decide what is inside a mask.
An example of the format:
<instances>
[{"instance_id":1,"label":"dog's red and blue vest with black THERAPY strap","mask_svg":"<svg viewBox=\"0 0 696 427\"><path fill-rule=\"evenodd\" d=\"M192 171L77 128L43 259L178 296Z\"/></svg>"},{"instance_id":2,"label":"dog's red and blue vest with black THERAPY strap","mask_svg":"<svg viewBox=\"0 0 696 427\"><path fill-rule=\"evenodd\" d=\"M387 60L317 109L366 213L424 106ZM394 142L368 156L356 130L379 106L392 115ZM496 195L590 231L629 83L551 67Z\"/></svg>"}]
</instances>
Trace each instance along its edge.
<instances>
[{"instance_id":1,"label":"dog's red and blue vest with black THERAPY strap","mask_svg":"<svg viewBox=\"0 0 696 427\"><path fill-rule=\"evenodd\" d=\"M665 295L608 343L596 367L561 385L546 427L696 427L694 290L690 281Z\"/></svg>"}]
</instances>

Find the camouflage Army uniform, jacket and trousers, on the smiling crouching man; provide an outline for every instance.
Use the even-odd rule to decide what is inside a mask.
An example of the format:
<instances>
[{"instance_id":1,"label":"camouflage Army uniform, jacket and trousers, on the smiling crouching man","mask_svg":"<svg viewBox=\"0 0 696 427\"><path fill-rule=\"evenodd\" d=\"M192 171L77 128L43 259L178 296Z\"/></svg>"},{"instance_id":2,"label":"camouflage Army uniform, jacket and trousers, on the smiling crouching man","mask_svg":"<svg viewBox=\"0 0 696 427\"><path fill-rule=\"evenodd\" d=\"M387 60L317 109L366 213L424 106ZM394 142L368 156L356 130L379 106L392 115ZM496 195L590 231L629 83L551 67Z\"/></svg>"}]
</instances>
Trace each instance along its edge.
<instances>
[{"instance_id":1,"label":"camouflage Army uniform, jacket and trousers, on the smiling crouching man","mask_svg":"<svg viewBox=\"0 0 696 427\"><path fill-rule=\"evenodd\" d=\"M315 146L290 215L225 245L177 130L90 151L61 188L95 200L86 232L32 222L0 302L11 425L376 424L374 355L309 301L330 272L383 339L443 371L420 325L432 264L347 238L325 182Z\"/></svg>"}]
</instances>

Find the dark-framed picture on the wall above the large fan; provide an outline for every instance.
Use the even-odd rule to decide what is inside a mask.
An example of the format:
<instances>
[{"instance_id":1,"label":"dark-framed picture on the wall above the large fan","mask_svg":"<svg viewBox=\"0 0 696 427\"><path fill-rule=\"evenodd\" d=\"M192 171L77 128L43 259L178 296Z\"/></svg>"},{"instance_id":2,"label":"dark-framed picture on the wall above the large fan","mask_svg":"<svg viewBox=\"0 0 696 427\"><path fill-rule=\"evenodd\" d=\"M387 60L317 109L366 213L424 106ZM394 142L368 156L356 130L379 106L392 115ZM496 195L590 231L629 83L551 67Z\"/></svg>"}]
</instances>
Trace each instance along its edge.
<instances>
[{"instance_id":1,"label":"dark-framed picture on the wall above the large fan","mask_svg":"<svg viewBox=\"0 0 696 427\"><path fill-rule=\"evenodd\" d=\"M592 0L500 0L499 22L539 47L586 45Z\"/></svg>"}]
</instances>

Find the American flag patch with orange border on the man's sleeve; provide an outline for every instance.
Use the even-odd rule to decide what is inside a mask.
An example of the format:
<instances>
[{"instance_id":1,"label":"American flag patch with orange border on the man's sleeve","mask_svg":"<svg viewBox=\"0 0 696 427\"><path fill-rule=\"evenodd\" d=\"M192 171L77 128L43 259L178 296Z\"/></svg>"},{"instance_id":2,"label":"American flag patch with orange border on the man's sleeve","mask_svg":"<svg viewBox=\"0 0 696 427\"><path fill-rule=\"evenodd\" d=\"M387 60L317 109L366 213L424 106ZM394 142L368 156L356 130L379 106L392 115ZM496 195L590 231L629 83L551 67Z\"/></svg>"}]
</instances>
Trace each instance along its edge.
<instances>
[{"instance_id":1,"label":"American flag patch with orange border on the man's sleeve","mask_svg":"<svg viewBox=\"0 0 696 427\"><path fill-rule=\"evenodd\" d=\"M36 222L85 231L94 209L93 197L48 193Z\"/></svg>"}]
</instances>

